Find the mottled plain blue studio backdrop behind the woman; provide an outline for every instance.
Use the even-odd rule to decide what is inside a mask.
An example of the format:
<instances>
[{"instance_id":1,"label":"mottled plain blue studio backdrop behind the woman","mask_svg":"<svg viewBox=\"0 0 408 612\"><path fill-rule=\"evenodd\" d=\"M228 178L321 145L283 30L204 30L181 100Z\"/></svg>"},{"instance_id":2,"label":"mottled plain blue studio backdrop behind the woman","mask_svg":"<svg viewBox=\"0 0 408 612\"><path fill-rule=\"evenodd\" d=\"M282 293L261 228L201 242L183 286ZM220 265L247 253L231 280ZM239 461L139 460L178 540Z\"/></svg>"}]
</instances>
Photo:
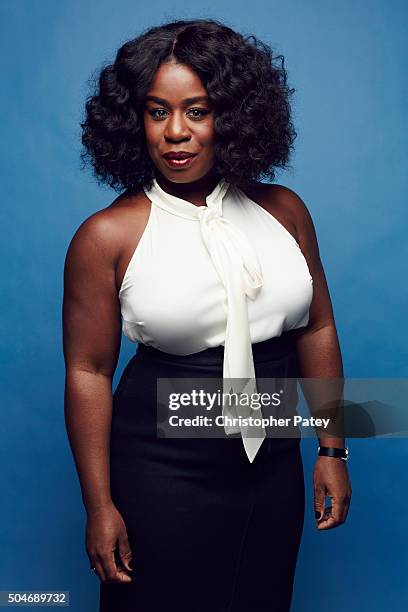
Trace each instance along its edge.
<instances>
[{"instance_id":1,"label":"mottled plain blue studio backdrop behind the woman","mask_svg":"<svg viewBox=\"0 0 408 612\"><path fill-rule=\"evenodd\" d=\"M87 79L141 29L215 17L271 43L297 90L294 189L315 222L345 373L408 374L407 4L394 0L3 0L0 590L69 590L97 609L85 513L63 416L62 273L80 223L113 191L80 172ZM406 32L405 32L406 33ZM115 383L134 346L123 338ZM405 610L406 459L400 440L350 440L347 522L317 532L307 513L295 612ZM267 527L267 526L266 526ZM210 612L210 611L209 611Z\"/></svg>"}]
</instances>

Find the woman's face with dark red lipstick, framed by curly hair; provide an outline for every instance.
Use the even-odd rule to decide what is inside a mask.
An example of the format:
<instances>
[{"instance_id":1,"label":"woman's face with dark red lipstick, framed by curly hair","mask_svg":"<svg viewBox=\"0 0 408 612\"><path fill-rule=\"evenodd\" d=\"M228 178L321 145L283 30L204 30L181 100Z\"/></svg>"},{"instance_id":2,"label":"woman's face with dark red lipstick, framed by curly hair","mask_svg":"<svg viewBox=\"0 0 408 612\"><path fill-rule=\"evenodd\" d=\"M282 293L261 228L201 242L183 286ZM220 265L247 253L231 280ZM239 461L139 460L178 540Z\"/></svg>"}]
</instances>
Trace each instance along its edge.
<instances>
[{"instance_id":1,"label":"woman's face with dark red lipstick, framed by curly hair","mask_svg":"<svg viewBox=\"0 0 408 612\"><path fill-rule=\"evenodd\" d=\"M158 68L146 96L144 127L149 155L168 180L197 181L213 167L213 110L189 66L170 63ZM185 160L168 157L180 152L194 155Z\"/></svg>"}]
</instances>

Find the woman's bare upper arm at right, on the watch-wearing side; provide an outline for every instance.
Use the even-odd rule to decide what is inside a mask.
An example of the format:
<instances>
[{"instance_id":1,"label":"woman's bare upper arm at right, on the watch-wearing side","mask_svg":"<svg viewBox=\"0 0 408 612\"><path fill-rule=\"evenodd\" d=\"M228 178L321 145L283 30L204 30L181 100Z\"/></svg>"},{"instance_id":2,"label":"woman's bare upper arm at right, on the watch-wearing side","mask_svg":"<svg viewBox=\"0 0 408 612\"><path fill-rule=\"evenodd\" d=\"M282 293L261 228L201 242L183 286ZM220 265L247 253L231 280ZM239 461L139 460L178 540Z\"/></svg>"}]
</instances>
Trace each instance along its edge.
<instances>
[{"instance_id":1,"label":"woman's bare upper arm at right, on the watch-wearing side","mask_svg":"<svg viewBox=\"0 0 408 612\"><path fill-rule=\"evenodd\" d=\"M316 230L310 212L303 200L291 189L275 185L274 197L286 210L296 228L297 241L306 259L313 279L313 299L309 309L308 329L334 325L334 314L326 275L320 259Z\"/></svg>"}]
</instances>

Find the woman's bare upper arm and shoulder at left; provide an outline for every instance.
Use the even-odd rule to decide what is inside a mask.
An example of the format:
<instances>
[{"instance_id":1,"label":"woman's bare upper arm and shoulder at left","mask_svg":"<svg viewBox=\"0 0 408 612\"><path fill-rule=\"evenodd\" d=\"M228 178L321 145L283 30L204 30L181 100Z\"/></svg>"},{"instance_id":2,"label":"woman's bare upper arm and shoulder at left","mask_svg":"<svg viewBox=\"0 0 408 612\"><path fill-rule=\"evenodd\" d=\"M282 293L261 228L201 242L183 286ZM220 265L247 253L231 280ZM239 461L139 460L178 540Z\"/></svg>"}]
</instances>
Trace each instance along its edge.
<instances>
[{"instance_id":1,"label":"woman's bare upper arm and shoulder at left","mask_svg":"<svg viewBox=\"0 0 408 612\"><path fill-rule=\"evenodd\" d=\"M64 266L63 349L66 367L113 376L121 341L115 281L116 236L101 211L78 228Z\"/></svg>"}]
</instances>

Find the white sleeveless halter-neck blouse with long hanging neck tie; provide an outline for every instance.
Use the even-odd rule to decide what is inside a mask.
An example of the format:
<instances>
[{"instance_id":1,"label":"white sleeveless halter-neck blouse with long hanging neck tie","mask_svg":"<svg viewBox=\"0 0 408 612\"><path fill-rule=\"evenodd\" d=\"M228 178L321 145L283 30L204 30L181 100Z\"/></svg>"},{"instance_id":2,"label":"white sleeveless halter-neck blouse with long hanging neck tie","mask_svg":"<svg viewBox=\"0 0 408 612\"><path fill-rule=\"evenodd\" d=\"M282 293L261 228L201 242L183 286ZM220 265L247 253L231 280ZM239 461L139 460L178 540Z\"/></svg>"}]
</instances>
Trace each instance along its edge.
<instances>
[{"instance_id":1,"label":"white sleeveless halter-neck blouse with long hanging neck tie","mask_svg":"<svg viewBox=\"0 0 408 612\"><path fill-rule=\"evenodd\" d=\"M206 206L155 178L144 191L150 216L119 291L123 333L176 355L223 345L223 378L254 379L251 344L309 322L313 279L298 243L225 179ZM250 461L264 437L244 439Z\"/></svg>"}]
</instances>

